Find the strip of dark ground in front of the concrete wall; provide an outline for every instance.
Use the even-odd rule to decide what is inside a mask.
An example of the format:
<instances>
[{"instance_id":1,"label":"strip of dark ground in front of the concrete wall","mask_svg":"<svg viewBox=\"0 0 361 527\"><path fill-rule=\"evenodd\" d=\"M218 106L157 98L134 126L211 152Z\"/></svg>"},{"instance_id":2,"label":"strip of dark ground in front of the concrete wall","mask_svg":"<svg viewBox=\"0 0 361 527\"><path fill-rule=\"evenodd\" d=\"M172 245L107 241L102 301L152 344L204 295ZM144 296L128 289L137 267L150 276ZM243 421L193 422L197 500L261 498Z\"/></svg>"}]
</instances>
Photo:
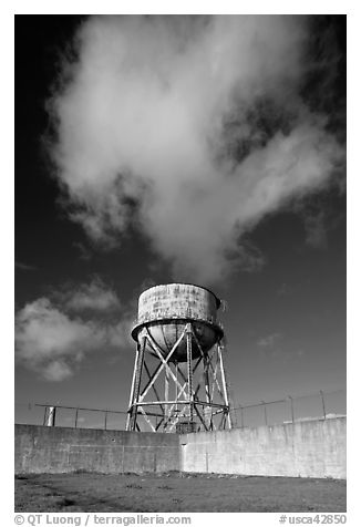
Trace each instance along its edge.
<instances>
[{"instance_id":1,"label":"strip of dark ground in front of the concrete wall","mask_svg":"<svg viewBox=\"0 0 361 527\"><path fill-rule=\"evenodd\" d=\"M16 512L345 513L339 479L195 474L16 476Z\"/></svg>"}]
</instances>

